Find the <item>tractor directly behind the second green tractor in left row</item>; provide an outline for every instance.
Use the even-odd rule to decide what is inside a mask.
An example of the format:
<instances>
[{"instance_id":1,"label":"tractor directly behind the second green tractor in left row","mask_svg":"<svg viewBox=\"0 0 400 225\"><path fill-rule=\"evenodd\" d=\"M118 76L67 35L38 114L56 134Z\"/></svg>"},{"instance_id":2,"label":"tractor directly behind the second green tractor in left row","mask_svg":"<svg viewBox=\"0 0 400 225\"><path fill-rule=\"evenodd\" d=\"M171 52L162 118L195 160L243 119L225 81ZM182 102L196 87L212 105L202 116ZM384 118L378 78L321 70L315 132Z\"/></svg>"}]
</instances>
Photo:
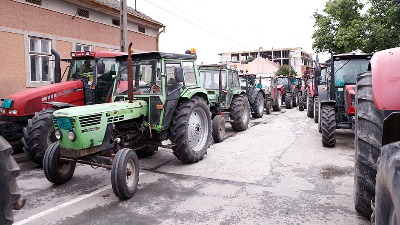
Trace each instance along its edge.
<instances>
[{"instance_id":1,"label":"tractor directly behind the second green tractor in left row","mask_svg":"<svg viewBox=\"0 0 400 225\"><path fill-rule=\"evenodd\" d=\"M251 106L251 115L253 118L261 118L268 98L267 93L262 89L262 84L257 82L255 74L243 74L241 78Z\"/></svg>"}]
</instances>

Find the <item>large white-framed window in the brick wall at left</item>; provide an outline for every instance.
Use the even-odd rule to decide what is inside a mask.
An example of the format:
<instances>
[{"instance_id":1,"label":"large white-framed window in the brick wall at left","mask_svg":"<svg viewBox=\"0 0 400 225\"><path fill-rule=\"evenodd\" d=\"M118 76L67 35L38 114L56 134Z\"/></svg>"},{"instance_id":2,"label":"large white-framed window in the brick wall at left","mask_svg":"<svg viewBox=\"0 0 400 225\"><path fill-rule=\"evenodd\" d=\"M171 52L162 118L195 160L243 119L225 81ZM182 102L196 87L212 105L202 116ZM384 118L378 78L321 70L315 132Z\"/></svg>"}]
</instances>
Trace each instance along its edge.
<instances>
[{"instance_id":1,"label":"large white-framed window in the brick wall at left","mask_svg":"<svg viewBox=\"0 0 400 225\"><path fill-rule=\"evenodd\" d=\"M50 81L51 40L30 37L29 61L31 81Z\"/></svg>"}]
</instances>

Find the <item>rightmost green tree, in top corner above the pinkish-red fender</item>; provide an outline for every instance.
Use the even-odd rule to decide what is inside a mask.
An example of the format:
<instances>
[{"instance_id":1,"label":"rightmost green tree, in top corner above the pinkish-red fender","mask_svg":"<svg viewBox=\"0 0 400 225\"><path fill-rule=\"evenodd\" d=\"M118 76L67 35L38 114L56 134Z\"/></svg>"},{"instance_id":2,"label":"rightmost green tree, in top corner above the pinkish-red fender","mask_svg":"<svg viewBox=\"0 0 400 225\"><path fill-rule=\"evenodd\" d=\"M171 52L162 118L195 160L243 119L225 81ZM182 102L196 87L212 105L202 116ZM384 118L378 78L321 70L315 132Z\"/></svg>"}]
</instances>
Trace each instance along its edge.
<instances>
[{"instance_id":1,"label":"rightmost green tree, in top corner above the pinkish-red fender","mask_svg":"<svg viewBox=\"0 0 400 225\"><path fill-rule=\"evenodd\" d=\"M375 52L400 45L400 8L391 1L369 0L366 15L364 52Z\"/></svg>"}]
</instances>

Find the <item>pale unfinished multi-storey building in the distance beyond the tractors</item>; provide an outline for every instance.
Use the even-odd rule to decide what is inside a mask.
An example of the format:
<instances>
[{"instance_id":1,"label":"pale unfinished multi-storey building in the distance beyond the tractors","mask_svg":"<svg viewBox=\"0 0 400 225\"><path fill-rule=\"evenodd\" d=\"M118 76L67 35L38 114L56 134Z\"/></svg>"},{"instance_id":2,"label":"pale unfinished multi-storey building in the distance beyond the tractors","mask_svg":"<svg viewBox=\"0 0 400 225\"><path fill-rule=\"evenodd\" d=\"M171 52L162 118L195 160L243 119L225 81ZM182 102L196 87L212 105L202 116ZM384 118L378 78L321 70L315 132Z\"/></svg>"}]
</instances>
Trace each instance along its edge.
<instances>
[{"instance_id":1,"label":"pale unfinished multi-storey building in the distance beyond the tractors","mask_svg":"<svg viewBox=\"0 0 400 225\"><path fill-rule=\"evenodd\" d=\"M269 59L279 65L290 65L294 68L297 74L304 72L313 66L312 55L304 51L302 48L274 48L265 50L260 48L254 51L242 52L227 52L220 53L220 63L243 63L251 57L253 59L261 56L264 59Z\"/></svg>"}]
</instances>

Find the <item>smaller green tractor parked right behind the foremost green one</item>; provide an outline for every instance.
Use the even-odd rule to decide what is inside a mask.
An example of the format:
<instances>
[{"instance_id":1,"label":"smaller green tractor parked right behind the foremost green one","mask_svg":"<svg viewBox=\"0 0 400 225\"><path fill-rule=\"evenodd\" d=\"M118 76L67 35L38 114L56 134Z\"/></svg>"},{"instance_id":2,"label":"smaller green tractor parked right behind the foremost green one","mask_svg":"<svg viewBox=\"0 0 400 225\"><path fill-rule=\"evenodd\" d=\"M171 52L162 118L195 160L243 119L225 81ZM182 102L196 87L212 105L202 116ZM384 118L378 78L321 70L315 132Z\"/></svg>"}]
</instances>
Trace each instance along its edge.
<instances>
[{"instance_id":1,"label":"smaller green tractor parked right behind the foremost green one","mask_svg":"<svg viewBox=\"0 0 400 225\"><path fill-rule=\"evenodd\" d=\"M214 142L224 140L226 120L230 121L234 131L246 130L250 105L240 87L237 70L226 65L202 65L199 70L201 86L207 90L210 102Z\"/></svg>"}]
</instances>

